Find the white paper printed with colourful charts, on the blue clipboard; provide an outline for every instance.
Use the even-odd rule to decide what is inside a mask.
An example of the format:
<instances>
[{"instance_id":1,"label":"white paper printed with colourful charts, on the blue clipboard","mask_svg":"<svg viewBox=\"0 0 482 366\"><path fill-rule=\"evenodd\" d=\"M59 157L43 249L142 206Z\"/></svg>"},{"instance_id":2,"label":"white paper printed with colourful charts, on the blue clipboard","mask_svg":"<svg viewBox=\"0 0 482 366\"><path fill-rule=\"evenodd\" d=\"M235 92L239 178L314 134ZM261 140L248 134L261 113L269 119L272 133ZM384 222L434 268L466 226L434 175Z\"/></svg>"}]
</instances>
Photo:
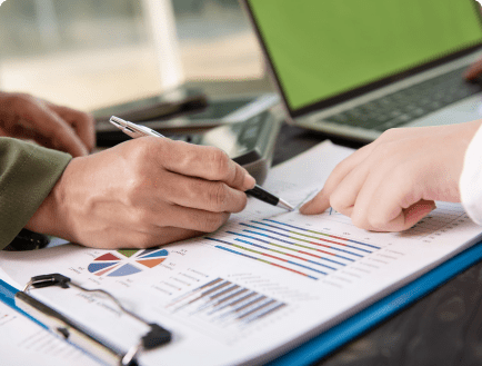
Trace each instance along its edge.
<instances>
[{"instance_id":1,"label":"white paper printed with colourful charts, on the blue clipboard","mask_svg":"<svg viewBox=\"0 0 482 366\"><path fill-rule=\"evenodd\" d=\"M272 169L264 185L301 205L351 149L323 142ZM402 234L369 233L327 211L307 217L254 199L218 233L162 248L99 250L73 245L2 253L6 273L24 284L61 273L102 288L173 340L141 365L261 364L341 322L480 237L462 207L438 208ZM142 328L108 299L73 289L33 290L125 350Z\"/></svg>"}]
</instances>

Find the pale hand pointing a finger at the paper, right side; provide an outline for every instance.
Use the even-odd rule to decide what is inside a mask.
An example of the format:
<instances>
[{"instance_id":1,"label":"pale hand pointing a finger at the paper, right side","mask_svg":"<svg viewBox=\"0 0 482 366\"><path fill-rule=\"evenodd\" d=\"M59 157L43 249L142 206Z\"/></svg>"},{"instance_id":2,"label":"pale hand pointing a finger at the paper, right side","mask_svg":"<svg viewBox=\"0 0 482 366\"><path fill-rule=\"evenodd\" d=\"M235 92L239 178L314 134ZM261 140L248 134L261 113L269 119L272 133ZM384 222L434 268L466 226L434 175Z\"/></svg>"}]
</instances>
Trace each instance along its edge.
<instances>
[{"instance_id":1,"label":"pale hand pointing a finger at the paper, right side","mask_svg":"<svg viewBox=\"0 0 482 366\"><path fill-rule=\"evenodd\" d=\"M300 212L331 206L366 230L409 229L435 200L460 201L464 154L481 122L388 130L340 162Z\"/></svg>"}]
</instances>

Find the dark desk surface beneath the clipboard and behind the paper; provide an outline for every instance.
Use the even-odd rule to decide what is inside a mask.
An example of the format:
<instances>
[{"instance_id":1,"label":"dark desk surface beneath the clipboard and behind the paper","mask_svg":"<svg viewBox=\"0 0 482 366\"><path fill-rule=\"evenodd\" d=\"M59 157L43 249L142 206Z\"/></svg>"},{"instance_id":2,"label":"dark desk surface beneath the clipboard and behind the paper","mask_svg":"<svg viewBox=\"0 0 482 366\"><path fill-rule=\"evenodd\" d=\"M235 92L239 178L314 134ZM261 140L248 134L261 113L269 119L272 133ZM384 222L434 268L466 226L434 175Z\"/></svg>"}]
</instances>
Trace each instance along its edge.
<instances>
[{"instance_id":1,"label":"dark desk surface beneath the clipboard and behind the paper","mask_svg":"<svg viewBox=\"0 0 482 366\"><path fill-rule=\"evenodd\" d=\"M325 138L285 125L273 164ZM359 147L341 140L333 142ZM482 263L314 365L482 365Z\"/></svg>"}]
</instances>

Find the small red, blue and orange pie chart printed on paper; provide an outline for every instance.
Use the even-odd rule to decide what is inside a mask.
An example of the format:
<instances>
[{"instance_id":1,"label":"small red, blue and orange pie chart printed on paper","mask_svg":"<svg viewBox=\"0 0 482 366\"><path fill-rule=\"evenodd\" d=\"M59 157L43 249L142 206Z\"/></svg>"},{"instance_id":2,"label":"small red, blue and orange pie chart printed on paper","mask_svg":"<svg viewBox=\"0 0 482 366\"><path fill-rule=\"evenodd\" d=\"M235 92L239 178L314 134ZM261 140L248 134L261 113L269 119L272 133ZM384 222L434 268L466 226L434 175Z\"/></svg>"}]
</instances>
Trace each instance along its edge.
<instances>
[{"instance_id":1,"label":"small red, blue and orange pie chart printed on paper","mask_svg":"<svg viewBox=\"0 0 482 366\"><path fill-rule=\"evenodd\" d=\"M87 269L96 276L122 277L160 265L168 257L165 249L121 249L97 257Z\"/></svg>"}]
</instances>

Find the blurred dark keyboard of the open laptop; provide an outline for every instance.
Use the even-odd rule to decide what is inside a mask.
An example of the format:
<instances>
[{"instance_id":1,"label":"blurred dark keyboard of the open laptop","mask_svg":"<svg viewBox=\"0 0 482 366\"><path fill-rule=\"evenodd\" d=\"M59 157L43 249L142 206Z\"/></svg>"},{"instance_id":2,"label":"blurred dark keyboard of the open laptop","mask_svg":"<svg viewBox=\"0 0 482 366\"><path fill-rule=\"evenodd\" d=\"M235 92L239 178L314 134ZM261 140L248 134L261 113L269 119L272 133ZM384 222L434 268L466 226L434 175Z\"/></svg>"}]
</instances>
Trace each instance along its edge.
<instances>
[{"instance_id":1,"label":"blurred dark keyboard of the open laptop","mask_svg":"<svg viewBox=\"0 0 482 366\"><path fill-rule=\"evenodd\" d=\"M344 126L384 131L423 117L481 91L478 83L464 81L461 68L365 105L323 118Z\"/></svg>"}]
</instances>

